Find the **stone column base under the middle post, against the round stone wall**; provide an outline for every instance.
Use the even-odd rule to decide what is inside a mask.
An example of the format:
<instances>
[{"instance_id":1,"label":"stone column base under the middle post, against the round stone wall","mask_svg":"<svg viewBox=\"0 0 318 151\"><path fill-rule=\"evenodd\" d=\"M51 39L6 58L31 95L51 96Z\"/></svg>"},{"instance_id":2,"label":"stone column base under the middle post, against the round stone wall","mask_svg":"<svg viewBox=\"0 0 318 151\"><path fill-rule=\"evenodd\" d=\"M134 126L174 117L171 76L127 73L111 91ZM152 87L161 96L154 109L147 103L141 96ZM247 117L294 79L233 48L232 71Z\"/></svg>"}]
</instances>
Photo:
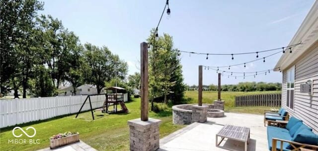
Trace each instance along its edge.
<instances>
[{"instance_id":1,"label":"stone column base under the middle post, against the round stone wall","mask_svg":"<svg viewBox=\"0 0 318 151\"><path fill-rule=\"evenodd\" d=\"M206 105L193 105L192 106L192 123L204 123L207 121L208 106Z\"/></svg>"}]
</instances>

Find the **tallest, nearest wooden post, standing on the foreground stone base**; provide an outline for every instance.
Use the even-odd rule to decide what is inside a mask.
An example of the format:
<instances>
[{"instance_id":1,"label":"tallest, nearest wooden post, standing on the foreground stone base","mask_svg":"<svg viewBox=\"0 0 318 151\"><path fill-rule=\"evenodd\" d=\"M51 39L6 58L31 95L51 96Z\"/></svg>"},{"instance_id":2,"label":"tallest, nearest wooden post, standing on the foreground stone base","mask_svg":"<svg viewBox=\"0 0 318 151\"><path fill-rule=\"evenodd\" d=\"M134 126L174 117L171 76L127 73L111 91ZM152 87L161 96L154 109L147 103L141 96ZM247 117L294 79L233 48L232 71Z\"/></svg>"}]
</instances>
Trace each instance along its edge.
<instances>
[{"instance_id":1,"label":"tallest, nearest wooden post, standing on the foreground stone base","mask_svg":"<svg viewBox=\"0 0 318 151\"><path fill-rule=\"evenodd\" d=\"M140 44L141 120L148 121L148 44Z\"/></svg>"}]
</instances>

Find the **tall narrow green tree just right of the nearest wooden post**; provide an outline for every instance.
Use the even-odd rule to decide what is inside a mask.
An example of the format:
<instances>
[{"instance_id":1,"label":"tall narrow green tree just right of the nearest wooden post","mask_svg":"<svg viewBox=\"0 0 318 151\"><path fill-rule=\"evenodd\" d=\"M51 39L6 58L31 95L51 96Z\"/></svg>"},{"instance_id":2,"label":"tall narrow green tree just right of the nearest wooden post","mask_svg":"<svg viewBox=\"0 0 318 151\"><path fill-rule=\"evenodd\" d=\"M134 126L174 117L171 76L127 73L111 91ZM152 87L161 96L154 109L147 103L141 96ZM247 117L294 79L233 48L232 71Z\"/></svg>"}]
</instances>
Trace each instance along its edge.
<instances>
[{"instance_id":1,"label":"tall narrow green tree just right of the nearest wooden post","mask_svg":"<svg viewBox=\"0 0 318 151\"><path fill-rule=\"evenodd\" d=\"M148 39L149 43L154 30ZM163 102L170 98L173 103L180 102L185 91L183 83L182 66L177 49L173 49L172 37L163 34L159 40L152 41L153 47L149 53L149 86L150 97L153 102L155 97L163 96Z\"/></svg>"}]
</instances>

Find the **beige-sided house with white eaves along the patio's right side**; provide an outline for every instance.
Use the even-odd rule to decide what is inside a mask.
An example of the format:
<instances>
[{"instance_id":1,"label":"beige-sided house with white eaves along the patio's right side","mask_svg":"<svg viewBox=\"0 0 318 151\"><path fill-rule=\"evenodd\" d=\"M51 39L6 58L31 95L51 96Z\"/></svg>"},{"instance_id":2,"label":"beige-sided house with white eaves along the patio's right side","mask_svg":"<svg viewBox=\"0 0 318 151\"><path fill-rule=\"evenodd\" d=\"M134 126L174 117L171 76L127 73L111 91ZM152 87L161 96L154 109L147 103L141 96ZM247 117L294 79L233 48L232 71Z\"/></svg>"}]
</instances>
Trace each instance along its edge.
<instances>
[{"instance_id":1,"label":"beige-sided house with white eaves along the patio's right side","mask_svg":"<svg viewBox=\"0 0 318 151\"><path fill-rule=\"evenodd\" d=\"M283 74L282 107L318 133L318 1L289 45L299 42L292 53L286 50L274 71Z\"/></svg>"}]
</instances>

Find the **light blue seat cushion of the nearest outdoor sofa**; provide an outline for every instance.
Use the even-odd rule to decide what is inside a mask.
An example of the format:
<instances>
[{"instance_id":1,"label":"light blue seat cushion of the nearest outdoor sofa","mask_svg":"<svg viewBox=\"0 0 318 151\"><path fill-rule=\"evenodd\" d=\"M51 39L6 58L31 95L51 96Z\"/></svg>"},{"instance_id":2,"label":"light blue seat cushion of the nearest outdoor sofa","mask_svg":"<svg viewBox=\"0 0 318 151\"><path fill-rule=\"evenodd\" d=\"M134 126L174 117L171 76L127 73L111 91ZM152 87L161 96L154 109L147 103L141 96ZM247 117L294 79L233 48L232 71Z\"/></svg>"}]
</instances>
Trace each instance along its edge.
<instances>
[{"instance_id":1,"label":"light blue seat cushion of the nearest outdoor sofa","mask_svg":"<svg viewBox=\"0 0 318 151\"><path fill-rule=\"evenodd\" d=\"M270 151L272 150L272 139L273 138L283 139L283 140L288 140L288 141L292 140L292 137L290 136L287 129L268 126L267 127L267 141L268 141L268 149ZM283 143L283 151L289 151L289 150L287 150L288 146L289 146L288 143ZM277 142L276 147L278 150L280 150L280 142Z\"/></svg>"}]
</instances>

